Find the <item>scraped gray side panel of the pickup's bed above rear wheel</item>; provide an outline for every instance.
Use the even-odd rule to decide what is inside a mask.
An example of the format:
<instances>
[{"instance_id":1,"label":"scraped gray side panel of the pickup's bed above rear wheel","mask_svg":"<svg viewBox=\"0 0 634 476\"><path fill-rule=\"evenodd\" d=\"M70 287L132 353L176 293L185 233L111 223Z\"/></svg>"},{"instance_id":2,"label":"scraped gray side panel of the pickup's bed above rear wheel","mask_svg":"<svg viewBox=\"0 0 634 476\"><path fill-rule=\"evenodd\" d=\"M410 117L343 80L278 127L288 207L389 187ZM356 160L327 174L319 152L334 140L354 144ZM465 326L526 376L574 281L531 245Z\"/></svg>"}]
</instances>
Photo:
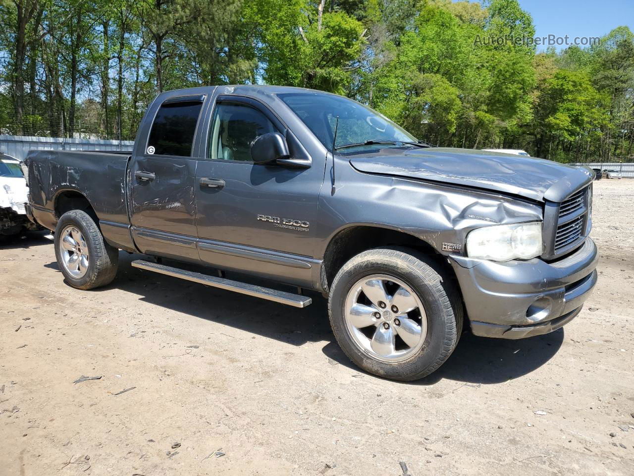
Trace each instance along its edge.
<instances>
[{"instance_id":1,"label":"scraped gray side panel of the pickup's bed above rear wheel","mask_svg":"<svg viewBox=\"0 0 634 476\"><path fill-rule=\"evenodd\" d=\"M129 159L110 152L32 150L25 162L34 218L54 230L64 211L63 200L84 197L99 218L105 239L118 248L134 249L127 208Z\"/></svg>"}]
</instances>

